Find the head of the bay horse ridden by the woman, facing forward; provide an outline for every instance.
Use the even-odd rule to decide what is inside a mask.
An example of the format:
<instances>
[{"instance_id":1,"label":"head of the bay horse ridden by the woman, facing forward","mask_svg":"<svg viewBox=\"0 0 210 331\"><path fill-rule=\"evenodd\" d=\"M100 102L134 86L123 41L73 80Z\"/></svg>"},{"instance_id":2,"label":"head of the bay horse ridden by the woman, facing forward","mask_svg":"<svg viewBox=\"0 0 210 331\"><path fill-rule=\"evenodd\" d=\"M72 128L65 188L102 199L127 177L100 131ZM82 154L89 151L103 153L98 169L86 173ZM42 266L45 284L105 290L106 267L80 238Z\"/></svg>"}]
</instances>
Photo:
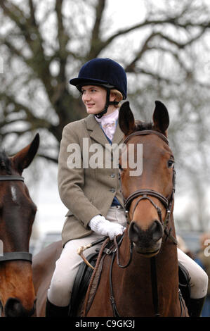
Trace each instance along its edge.
<instances>
[{"instance_id":1,"label":"head of the bay horse ridden by the woman, facing forward","mask_svg":"<svg viewBox=\"0 0 210 331\"><path fill-rule=\"evenodd\" d=\"M174 158L166 131L169 114L162 102L155 104L153 123L135 122L129 102L119 111L119 126L125 139L119 170L129 214L129 238L136 251L147 257L159 252L173 212ZM132 153L134 163L129 162ZM133 164L138 168L136 173Z\"/></svg>"}]
</instances>

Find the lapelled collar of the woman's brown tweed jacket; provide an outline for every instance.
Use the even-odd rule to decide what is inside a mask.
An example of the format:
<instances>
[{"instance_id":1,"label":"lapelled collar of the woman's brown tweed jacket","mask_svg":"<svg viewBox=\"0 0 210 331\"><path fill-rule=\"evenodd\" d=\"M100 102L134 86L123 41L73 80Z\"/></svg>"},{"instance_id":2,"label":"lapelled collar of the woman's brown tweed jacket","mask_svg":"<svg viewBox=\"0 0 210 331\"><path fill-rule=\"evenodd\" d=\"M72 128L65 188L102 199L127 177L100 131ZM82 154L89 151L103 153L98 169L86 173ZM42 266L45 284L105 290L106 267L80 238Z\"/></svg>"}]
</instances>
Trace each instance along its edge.
<instances>
[{"instance_id":1,"label":"lapelled collar of the woman's brown tweed jacket","mask_svg":"<svg viewBox=\"0 0 210 331\"><path fill-rule=\"evenodd\" d=\"M92 139L96 140L96 142L99 142L103 146L105 146L105 144L108 143L107 139L103 133L103 130L101 129L100 125L96 121L96 118L93 114L88 115L86 117L86 127L87 127L87 130L90 131L90 137ZM124 134L119 128L119 123L117 123L117 127L114 132L114 137L112 140L112 144L119 144L119 143L123 142L123 137L124 137Z\"/></svg>"}]
</instances>

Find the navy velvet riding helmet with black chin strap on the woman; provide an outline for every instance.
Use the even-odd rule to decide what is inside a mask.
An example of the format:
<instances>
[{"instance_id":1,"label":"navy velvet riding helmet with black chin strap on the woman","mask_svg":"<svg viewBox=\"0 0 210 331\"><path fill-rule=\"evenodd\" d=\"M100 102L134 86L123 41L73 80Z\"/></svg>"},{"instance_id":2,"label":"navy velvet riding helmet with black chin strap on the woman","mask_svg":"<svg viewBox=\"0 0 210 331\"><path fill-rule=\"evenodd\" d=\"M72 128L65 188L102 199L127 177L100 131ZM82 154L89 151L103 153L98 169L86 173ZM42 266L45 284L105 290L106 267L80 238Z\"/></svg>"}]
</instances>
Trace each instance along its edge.
<instances>
[{"instance_id":1,"label":"navy velvet riding helmet with black chin strap on the woman","mask_svg":"<svg viewBox=\"0 0 210 331\"><path fill-rule=\"evenodd\" d=\"M110 58L93 58L85 63L79 70L77 78L70 80L81 92L84 85L99 85L107 89L105 109L96 115L101 118L110 104L118 104L117 101L110 101L110 89L117 89L122 93L123 99L127 96L127 78L124 68Z\"/></svg>"}]
</instances>

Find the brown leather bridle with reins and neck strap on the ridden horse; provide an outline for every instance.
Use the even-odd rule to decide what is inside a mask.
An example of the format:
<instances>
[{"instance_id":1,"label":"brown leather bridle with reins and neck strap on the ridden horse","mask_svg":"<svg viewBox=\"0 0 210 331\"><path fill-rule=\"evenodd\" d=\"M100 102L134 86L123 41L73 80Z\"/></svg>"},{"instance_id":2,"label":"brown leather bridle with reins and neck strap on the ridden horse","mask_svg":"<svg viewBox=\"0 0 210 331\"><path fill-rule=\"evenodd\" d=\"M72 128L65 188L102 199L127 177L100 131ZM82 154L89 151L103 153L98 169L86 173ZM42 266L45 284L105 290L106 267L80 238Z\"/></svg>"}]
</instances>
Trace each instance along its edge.
<instances>
[{"instance_id":1,"label":"brown leather bridle with reins and neck strap on the ridden horse","mask_svg":"<svg viewBox=\"0 0 210 331\"><path fill-rule=\"evenodd\" d=\"M139 136L139 135L157 135L166 144L169 145L168 139L164 135L162 135L162 133L154 131L154 130L143 130L143 131L133 132L133 133L131 133L131 135L126 137L126 139L124 140L124 144L127 144L129 142L129 140L131 139L131 137ZM129 220L129 208L131 206L131 202L133 201L133 199L136 199L136 198L139 197L139 199L136 201L136 204L133 208L133 213L134 213L138 203L141 200L143 200L143 199L149 200L151 202L152 206L154 206L157 210L159 220L162 223L163 228L164 228L164 233L166 234L166 240L168 238L170 238L172 240L173 244L177 244L177 240L176 240L176 237L173 237L173 235L171 235L172 228L169 229L167 227L167 225L169 224L171 211L172 211L172 207L173 207L173 199L174 199L174 192L175 192L175 176L176 176L176 172L173 168L173 179L172 179L173 187L172 187L171 194L167 198L165 196L163 196L162 194L160 194L159 192L154 191L153 189L138 189L135 192L131 193L126 199L124 198L124 207L125 207L125 210L126 210L126 217L127 217L128 223L130 223L130 221L131 221L131 220ZM155 204L155 202L152 201L150 196L154 196L155 198L159 199L159 201L163 204L164 208L166 208L166 217L165 217L164 220L162 220L162 212L161 212L159 206L157 206ZM115 299L114 299L113 288L112 288L112 266L113 266L113 263L114 263L114 258L117 255L117 265L120 268L128 267L129 264L131 263L131 260L132 260L133 243L131 242L129 262L126 263L125 266L121 266L121 264L119 263L119 245L121 244L123 237L119 240L119 242L117 242L116 238L114 238L114 244L115 244L116 248L113 252L112 262L111 262L111 266L110 266L110 294L111 294L110 301L111 301L111 304L112 304L112 310L113 310L113 314L114 314L115 317L116 316L119 317L119 313L117 311L117 306L116 306L116 302L115 302ZM154 311L155 311L155 317L158 317L160 315L159 315L159 302L158 302L158 292L157 292L157 273L156 273L156 258L155 258L155 256L150 258L150 266L151 266L151 282L152 282L152 301L153 301L153 306L154 306ZM179 292L179 296L181 296L180 292ZM180 299L180 302L181 302L181 297L179 299Z\"/></svg>"}]
</instances>

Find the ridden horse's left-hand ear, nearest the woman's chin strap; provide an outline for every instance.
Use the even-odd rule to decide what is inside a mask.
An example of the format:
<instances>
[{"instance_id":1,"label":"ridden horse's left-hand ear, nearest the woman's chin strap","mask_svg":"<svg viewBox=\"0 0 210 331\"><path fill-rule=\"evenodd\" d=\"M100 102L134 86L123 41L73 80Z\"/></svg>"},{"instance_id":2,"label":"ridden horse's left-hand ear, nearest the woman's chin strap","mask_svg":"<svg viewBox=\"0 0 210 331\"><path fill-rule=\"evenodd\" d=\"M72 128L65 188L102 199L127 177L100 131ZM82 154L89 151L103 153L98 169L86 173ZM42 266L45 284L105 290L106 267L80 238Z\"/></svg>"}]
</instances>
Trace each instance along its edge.
<instances>
[{"instance_id":1,"label":"ridden horse's left-hand ear, nearest the woman's chin strap","mask_svg":"<svg viewBox=\"0 0 210 331\"><path fill-rule=\"evenodd\" d=\"M119 108L119 127L128 136L135 128L135 119L129 106L129 101L124 102Z\"/></svg>"}]
</instances>

